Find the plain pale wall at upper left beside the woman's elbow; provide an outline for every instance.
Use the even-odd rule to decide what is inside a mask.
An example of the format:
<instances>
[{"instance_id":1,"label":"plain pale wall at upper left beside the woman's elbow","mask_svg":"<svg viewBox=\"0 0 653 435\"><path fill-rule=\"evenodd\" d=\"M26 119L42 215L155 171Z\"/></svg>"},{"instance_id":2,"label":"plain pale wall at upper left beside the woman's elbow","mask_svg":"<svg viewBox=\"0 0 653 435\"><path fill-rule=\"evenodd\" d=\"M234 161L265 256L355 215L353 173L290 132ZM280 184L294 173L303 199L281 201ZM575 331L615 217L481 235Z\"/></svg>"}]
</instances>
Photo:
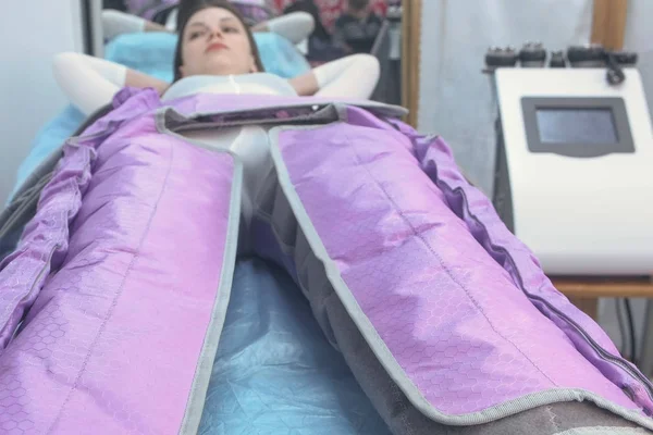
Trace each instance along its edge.
<instances>
[{"instance_id":1,"label":"plain pale wall at upper left beside the woman's elbow","mask_svg":"<svg viewBox=\"0 0 653 435\"><path fill-rule=\"evenodd\" d=\"M65 105L51 58L82 51L78 0L3 1L0 14L0 204L36 132Z\"/></svg>"}]
</instances>

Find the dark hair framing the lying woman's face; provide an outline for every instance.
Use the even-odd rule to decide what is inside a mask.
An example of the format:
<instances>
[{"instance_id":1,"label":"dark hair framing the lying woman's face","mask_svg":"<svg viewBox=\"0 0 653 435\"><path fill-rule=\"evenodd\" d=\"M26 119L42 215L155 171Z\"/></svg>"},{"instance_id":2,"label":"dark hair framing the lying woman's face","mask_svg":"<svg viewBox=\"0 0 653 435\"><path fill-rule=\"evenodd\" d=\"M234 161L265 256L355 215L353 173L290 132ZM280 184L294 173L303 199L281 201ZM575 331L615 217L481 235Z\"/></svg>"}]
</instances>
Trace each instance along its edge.
<instances>
[{"instance_id":1,"label":"dark hair framing the lying woman's face","mask_svg":"<svg viewBox=\"0 0 653 435\"><path fill-rule=\"evenodd\" d=\"M241 15L241 13L238 12L237 9L235 9L233 5L231 5L225 0L183 0L180 2L180 9L178 9L178 15L177 15L177 26L176 27L177 27L178 40L177 40L176 48L174 50L174 65L173 65L174 82L182 78L182 72L180 71L180 67L182 66L182 61L183 61L182 60L182 47L184 45L184 30L186 28L186 25L188 24L188 21L190 20L190 17L193 15L195 15L195 13L201 11L202 9L207 9L207 8L225 9L229 12L231 12L232 14L234 14L234 16L236 18L238 18L241 24L243 24L245 32L247 33L247 39L249 39L249 46L251 47L251 55L254 57L254 62L256 63L256 67L258 69L259 72L261 72L261 73L264 72L266 69L263 67L263 63L261 62L261 57L259 54L256 41L254 40L254 36L251 35L251 30L249 29L249 26L247 26L247 24L245 24L245 21L243 20L243 15Z\"/></svg>"}]
</instances>

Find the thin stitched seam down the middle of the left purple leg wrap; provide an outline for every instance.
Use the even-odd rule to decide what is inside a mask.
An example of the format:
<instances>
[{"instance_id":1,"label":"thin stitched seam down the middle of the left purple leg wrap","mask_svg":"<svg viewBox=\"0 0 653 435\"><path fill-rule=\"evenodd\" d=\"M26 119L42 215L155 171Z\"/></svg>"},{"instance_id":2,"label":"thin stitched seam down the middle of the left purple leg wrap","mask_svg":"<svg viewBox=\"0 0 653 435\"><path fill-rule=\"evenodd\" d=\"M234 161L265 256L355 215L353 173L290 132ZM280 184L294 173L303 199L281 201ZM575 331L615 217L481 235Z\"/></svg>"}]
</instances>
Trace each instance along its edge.
<instances>
[{"instance_id":1,"label":"thin stitched seam down the middle of the left purple leg wrap","mask_svg":"<svg viewBox=\"0 0 653 435\"><path fill-rule=\"evenodd\" d=\"M151 227L151 224L152 224L152 220L153 220L156 211L157 211L157 209L159 207L159 201L161 200L161 197L163 196L163 191L165 190L165 186L168 185L168 179L169 179L170 173L172 171L172 158L173 158L173 154L174 154L174 149L173 148L174 147L172 147L172 146L169 147L169 149L170 149L170 158L169 158L169 161L168 161L168 171L165 172L165 177L163 178L163 183L161 185L161 190L159 191L159 196L157 198L157 201L153 203L151 213L150 213L149 219L147 221L147 225L146 225L146 227L145 227L145 229L143 232L143 236L140 237L140 240L138 241L137 250L134 253L134 257L132 257L132 261L130 261L130 265L127 266L127 269L125 271L125 274L123 275L123 278L122 278L122 282L120 284L120 287L118 288L118 291L115 293L115 296L113 297L113 301L112 301L111 306L109 307L107 315L104 315L104 319L102 320L102 323L100 324L98 333L96 334L95 338L93 339L93 341L91 341L91 344L90 344L90 346L88 348L86 357L84 358L84 363L82 364L82 368L79 369L79 373L77 374L77 377L75 378L75 382L74 382L73 386L71 387L69 394L66 395L65 400L61 405L61 408L57 412L57 415L54 417L52 423L48 427L48 431L46 432L47 434L52 433L52 430L54 428L54 425L59 422L59 420L61 418L61 413L63 412L63 409L70 402L73 393L77 389L79 381L82 380L82 376L86 372L86 368L88 365L88 360L90 359L91 351L96 347L96 345L98 343L98 339L100 338L100 336L104 332L104 327L107 326L107 322L109 321L109 319L113 314L113 310L115 309L115 306L118 306L118 300L122 296L122 293L124 290L124 285L125 285L125 282L127 279L127 276L130 275L132 269L134 268L134 264L136 263L136 260L139 258L140 249L143 248L143 244L145 243L145 239L146 239L146 237L149 234L149 231L150 231L150 227Z\"/></svg>"}]
</instances>

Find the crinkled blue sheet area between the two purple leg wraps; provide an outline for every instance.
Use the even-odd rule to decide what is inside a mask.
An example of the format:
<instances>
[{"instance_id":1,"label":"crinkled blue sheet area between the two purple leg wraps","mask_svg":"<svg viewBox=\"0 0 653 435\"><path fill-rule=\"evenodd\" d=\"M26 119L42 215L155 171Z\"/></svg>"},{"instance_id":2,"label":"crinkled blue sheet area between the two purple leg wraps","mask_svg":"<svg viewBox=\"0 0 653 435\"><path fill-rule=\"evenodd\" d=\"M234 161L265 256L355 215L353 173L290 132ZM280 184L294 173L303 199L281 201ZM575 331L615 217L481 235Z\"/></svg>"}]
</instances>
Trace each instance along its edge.
<instances>
[{"instance_id":1,"label":"crinkled blue sheet area between the two purple leg wraps","mask_svg":"<svg viewBox=\"0 0 653 435\"><path fill-rule=\"evenodd\" d=\"M390 435L281 269L236 264L201 435Z\"/></svg>"}]
</instances>

